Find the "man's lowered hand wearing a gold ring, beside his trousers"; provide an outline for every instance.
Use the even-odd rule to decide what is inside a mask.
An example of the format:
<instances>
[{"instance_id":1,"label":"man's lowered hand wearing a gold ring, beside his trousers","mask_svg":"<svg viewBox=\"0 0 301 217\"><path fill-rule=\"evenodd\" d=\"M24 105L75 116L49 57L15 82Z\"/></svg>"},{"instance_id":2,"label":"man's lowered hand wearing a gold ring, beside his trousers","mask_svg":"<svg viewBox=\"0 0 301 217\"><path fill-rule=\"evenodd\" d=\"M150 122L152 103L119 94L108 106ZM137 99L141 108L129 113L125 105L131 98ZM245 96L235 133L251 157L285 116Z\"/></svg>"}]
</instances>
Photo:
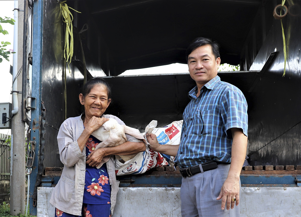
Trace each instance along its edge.
<instances>
[{"instance_id":1,"label":"man's lowered hand wearing a gold ring, beside his trousers","mask_svg":"<svg viewBox=\"0 0 301 217\"><path fill-rule=\"evenodd\" d=\"M227 210L234 208L234 204L238 206L239 204L239 191L240 191L240 185L239 185L239 177L227 177L225 180L221 192L219 193L219 196L216 198L216 200L222 199L222 209L225 209L225 204L227 204L226 208ZM236 201L233 202L232 198L236 198Z\"/></svg>"}]
</instances>

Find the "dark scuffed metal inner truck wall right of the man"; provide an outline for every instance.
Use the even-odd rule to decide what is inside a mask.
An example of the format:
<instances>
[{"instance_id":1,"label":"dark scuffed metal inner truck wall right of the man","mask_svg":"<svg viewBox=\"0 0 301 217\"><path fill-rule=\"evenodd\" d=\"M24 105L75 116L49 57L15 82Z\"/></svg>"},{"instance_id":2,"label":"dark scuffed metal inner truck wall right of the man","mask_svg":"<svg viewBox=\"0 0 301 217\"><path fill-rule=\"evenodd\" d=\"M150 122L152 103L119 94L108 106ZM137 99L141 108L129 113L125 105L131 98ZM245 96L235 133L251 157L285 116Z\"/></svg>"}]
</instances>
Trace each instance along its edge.
<instances>
[{"instance_id":1,"label":"dark scuffed metal inner truck wall right of the man","mask_svg":"<svg viewBox=\"0 0 301 217\"><path fill-rule=\"evenodd\" d=\"M287 6L291 12L297 10L300 14L300 1L287 2ZM274 20L250 68L261 70L269 54L277 50L248 101L247 154L252 166L301 164L301 29L293 27L300 26L299 14L288 14L282 20L287 45L285 76L282 77L284 54L280 20Z\"/></svg>"}]
</instances>

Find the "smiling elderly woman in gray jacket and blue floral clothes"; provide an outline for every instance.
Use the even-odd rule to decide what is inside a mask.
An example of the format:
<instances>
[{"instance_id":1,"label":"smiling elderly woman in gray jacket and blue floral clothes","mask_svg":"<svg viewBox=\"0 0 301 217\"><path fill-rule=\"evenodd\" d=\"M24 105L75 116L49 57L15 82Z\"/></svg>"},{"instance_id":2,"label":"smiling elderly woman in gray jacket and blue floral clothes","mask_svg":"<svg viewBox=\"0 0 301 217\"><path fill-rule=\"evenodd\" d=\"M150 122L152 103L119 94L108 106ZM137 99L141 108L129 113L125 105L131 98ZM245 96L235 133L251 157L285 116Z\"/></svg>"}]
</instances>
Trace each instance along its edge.
<instances>
[{"instance_id":1,"label":"smiling elderly woman in gray jacket and blue floral clothes","mask_svg":"<svg viewBox=\"0 0 301 217\"><path fill-rule=\"evenodd\" d=\"M145 145L132 136L127 142L98 148L100 143L91 134L113 115L104 115L111 102L109 84L103 78L93 78L83 87L79 101L84 106L82 115L63 122L57 135L58 148L64 169L55 186L50 203L54 216L109 217L113 213L119 182L116 181L114 155L131 155L145 150ZM94 151L95 150L95 151ZM102 167L96 167L103 157L111 156Z\"/></svg>"}]
</instances>

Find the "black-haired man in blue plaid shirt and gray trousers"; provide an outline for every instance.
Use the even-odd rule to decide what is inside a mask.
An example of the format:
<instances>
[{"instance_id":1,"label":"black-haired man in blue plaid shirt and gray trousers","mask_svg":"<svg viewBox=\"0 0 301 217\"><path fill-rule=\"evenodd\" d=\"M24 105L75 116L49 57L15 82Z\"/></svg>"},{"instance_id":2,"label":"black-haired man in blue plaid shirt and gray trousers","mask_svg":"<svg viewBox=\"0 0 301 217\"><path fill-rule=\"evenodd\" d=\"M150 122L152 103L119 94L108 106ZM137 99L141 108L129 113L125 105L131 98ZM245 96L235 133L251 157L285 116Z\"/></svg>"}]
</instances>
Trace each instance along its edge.
<instances>
[{"instance_id":1,"label":"black-haired man in blue plaid shirt and gray trousers","mask_svg":"<svg viewBox=\"0 0 301 217\"><path fill-rule=\"evenodd\" d=\"M191 101L183 113L181 143L160 145L154 134L147 135L148 141L154 151L176 156L183 177L182 217L240 216L246 99L217 75L221 60L216 42L196 38L187 48L186 60L197 86L188 94Z\"/></svg>"}]
</instances>

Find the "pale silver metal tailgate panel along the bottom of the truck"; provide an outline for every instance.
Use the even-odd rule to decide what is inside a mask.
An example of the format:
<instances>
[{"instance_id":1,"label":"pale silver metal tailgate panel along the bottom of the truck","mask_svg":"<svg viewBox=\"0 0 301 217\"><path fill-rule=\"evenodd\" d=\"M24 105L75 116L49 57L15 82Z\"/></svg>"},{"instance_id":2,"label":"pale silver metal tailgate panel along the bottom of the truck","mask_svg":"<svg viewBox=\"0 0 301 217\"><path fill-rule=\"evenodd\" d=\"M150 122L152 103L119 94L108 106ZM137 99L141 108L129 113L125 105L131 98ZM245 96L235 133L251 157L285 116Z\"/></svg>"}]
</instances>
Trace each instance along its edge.
<instances>
[{"instance_id":1,"label":"pale silver metal tailgate panel along the bottom of the truck","mask_svg":"<svg viewBox=\"0 0 301 217\"><path fill-rule=\"evenodd\" d=\"M151 189L151 190L150 190ZM37 217L54 215L53 188L38 187ZM299 217L301 188L241 188L241 217ZM235 209L235 207L234 207ZM181 216L180 188L119 188L112 217Z\"/></svg>"}]
</instances>

